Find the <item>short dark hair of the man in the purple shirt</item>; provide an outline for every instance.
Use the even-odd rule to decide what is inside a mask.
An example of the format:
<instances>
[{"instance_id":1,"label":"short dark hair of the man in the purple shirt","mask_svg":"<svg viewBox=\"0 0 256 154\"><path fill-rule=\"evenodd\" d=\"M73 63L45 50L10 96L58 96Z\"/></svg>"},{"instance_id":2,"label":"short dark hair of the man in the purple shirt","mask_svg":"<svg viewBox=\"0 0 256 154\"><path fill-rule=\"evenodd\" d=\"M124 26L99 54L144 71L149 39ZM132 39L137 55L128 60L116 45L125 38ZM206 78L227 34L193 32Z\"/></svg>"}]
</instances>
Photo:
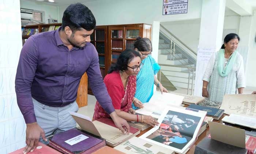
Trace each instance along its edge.
<instances>
[{"instance_id":1,"label":"short dark hair of the man in the purple shirt","mask_svg":"<svg viewBox=\"0 0 256 154\"><path fill-rule=\"evenodd\" d=\"M81 28L91 31L96 26L96 20L89 8L81 3L69 5L62 17L62 28L68 26L72 32L80 30Z\"/></svg>"}]
</instances>

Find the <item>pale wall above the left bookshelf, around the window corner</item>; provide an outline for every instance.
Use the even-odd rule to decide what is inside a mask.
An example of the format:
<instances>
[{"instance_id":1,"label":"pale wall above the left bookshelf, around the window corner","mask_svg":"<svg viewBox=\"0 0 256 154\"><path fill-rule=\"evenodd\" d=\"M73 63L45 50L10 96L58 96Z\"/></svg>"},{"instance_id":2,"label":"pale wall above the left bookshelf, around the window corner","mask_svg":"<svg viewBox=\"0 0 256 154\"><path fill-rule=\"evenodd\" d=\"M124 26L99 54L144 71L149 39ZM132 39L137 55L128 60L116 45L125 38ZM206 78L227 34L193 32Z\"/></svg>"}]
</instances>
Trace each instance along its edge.
<instances>
[{"instance_id":1,"label":"pale wall above the left bookshelf, around the window corner","mask_svg":"<svg viewBox=\"0 0 256 154\"><path fill-rule=\"evenodd\" d=\"M52 5L45 5L42 3L32 2L32 1L26 1L26 0L20 0L20 8L26 8L26 9L34 9L37 11L44 11L45 12L45 19L44 22L47 24L48 19L50 17L52 19L57 19L58 23L61 23L61 20L58 19L59 17L59 8ZM50 16L50 17L49 17Z\"/></svg>"}]
</instances>

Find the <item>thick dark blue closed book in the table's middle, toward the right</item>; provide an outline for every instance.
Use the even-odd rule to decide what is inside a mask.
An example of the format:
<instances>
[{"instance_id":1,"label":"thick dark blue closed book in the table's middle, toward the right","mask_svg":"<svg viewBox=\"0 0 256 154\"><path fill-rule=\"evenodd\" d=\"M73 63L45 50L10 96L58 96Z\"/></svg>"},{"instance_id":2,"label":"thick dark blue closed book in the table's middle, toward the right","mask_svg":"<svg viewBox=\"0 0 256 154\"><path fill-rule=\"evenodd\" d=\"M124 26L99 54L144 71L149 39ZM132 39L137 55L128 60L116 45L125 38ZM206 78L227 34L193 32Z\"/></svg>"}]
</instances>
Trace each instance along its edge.
<instances>
[{"instance_id":1,"label":"thick dark blue closed book in the table's middle, toward the right","mask_svg":"<svg viewBox=\"0 0 256 154\"><path fill-rule=\"evenodd\" d=\"M207 115L209 117L212 117L215 120L219 120L222 117L222 115L224 114L224 110L214 108L214 107L207 107L207 106L200 106L200 105L196 105L196 104L190 104L188 106L188 108L193 108L193 109L196 109L196 110L206 111Z\"/></svg>"}]
</instances>

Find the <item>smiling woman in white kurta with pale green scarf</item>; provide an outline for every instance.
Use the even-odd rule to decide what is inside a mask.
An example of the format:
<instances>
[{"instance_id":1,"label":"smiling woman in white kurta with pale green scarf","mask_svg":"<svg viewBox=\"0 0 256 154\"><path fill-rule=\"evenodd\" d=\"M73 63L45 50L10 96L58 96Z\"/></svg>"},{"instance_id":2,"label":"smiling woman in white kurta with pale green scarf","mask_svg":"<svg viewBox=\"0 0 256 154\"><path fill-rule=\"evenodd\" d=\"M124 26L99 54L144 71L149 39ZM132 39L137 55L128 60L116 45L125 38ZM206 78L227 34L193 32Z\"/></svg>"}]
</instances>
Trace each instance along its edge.
<instances>
[{"instance_id":1,"label":"smiling woman in white kurta with pale green scarf","mask_svg":"<svg viewBox=\"0 0 256 154\"><path fill-rule=\"evenodd\" d=\"M242 94L245 87L244 62L236 51L239 36L228 34L221 49L211 56L203 77L202 95L213 102L222 102L224 94Z\"/></svg>"}]
</instances>

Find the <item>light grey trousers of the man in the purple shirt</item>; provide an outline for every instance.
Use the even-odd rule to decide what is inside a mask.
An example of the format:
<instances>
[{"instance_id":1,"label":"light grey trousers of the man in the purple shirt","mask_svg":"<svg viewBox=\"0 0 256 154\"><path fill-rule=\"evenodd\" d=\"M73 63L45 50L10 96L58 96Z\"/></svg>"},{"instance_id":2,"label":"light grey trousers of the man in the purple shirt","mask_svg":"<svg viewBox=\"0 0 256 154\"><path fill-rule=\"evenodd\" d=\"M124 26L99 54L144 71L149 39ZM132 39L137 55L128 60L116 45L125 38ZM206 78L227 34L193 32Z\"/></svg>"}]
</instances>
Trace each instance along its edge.
<instances>
[{"instance_id":1,"label":"light grey trousers of the man in the purple shirt","mask_svg":"<svg viewBox=\"0 0 256 154\"><path fill-rule=\"evenodd\" d=\"M37 123L45 131L46 137L76 127L76 121L69 114L69 111L78 111L76 101L64 107L47 106L35 99L33 99L33 104ZM39 141L44 144L49 143L49 141L44 141L42 137Z\"/></svg>"}]
</instances>

